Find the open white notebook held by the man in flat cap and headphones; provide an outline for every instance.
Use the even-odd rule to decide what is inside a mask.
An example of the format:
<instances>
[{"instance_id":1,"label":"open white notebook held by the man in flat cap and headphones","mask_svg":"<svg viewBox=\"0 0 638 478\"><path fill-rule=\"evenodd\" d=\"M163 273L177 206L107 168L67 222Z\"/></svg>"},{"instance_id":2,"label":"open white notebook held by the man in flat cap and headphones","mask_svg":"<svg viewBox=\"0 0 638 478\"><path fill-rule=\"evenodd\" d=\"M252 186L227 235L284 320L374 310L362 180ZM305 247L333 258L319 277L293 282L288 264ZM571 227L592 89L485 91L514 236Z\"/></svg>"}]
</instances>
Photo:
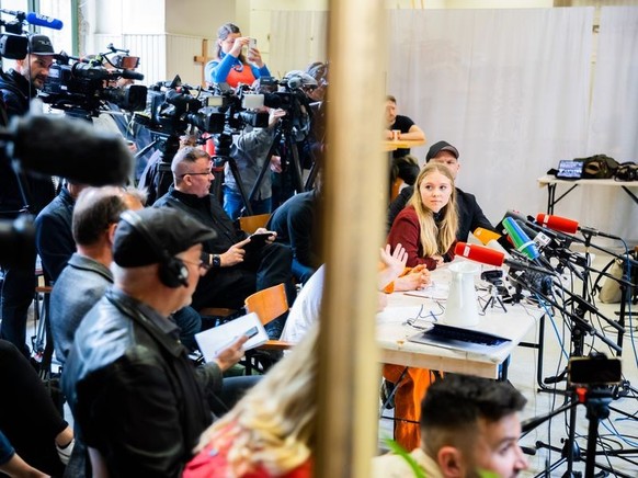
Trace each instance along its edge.
<instances>
[{"instance_id":1,"label":"open white notebook held by the man in flat cap and headphones","mask_svg":"<svg viewBox=\"0 0 638 478\"><path fill-rule=\"evenodd\" d=\"M257 329L257 331L254 330ZM255 333L257 332L257 333ZM223 350L230 346L241 335L251 337L244 344L243 350L254 349L267 342L269 335L264 330L259 316L254 312L238 317L221 326L214 327L203 332L195 333L195 340L204 360L212 362L221 353Z\"/></svg>"}]
</instances>

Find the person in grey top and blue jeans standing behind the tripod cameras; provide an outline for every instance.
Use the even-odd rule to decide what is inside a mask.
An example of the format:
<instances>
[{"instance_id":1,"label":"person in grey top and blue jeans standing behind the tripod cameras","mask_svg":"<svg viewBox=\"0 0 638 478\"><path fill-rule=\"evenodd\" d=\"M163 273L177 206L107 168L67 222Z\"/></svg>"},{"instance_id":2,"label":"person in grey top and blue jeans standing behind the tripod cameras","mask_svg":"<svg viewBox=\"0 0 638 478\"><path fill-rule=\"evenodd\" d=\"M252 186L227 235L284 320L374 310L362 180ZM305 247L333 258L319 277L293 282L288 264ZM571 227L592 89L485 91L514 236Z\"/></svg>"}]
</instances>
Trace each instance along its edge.
<instances>
[{"instance_id":1,"label":"person in grey top and blue jeans standing behind the tripod cameras","mask_svg":"<svg viewBox=\"0 0 638 478\"><path fill-rule=\"evenodd\" d=\"M243 190L247 192L250 192L254 186L263 163L267 160L266 156L275 137L275 125L286 114L283 110L269 110L269 126L266 128L251 128L247 126L235 139L230 149L230 157L237 164ZM270 161L271 170L277 170L281 158L278 156L272 156ZM243 200L228 163L225 167L224 174L224 210L226 210L226 214L232 220L237 220L244 206ZM257 196L250 202L252 213L271 213L272 194L271 178L266 174L260 184Z\"/></svg>"}]
</instances>

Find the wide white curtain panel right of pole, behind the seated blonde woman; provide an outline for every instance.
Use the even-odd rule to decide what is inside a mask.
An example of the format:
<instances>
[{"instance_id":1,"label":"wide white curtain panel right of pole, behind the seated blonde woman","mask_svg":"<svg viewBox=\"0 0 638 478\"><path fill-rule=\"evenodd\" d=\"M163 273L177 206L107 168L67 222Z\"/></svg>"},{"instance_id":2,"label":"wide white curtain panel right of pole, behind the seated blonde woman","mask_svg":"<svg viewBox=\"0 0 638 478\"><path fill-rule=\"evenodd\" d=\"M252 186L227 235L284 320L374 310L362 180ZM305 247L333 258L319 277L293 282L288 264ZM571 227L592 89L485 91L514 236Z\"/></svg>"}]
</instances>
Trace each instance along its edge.
<instances>
[{"instance_id":1,"label":"wide white curtain panel right of pole, behind the seated blonde woman","mask_svg":"<svg viewBox=\"0 0 638 478\"><path fill-rule=\"evenodd\" d=\"M586 144L593 9L390 13L388 93L428 145L460 152L458 185L492 223L536 215L536 179Z\"/></svg>"}]
</instances>

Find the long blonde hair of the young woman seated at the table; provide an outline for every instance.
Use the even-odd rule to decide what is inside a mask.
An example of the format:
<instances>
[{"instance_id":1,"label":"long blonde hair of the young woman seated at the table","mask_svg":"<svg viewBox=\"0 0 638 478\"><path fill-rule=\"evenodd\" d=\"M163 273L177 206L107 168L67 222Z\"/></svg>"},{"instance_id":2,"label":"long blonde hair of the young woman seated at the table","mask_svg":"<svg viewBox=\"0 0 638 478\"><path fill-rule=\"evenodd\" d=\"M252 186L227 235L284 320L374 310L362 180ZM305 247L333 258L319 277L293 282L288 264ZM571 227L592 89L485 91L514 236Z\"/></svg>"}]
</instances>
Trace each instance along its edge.
<instances>
[{"instance_id":1,"label":"long blonde hair of the young woman seated at the table","mask_svg":"<svg viewBox=\"0 0 638 478\"><path fill-rule=\"evenodd\" d=\"M434 213L425 207L421 198L421 183L425 178L433 173L440 172L449 180L452 194L449 202L441 209L442 219L436 224ZM419 217L421 248L423 257L430 258L436 254L444 254L456 239L458 230L458 214L456 212L456 187L454 187L454 177L446 166L436 162L429 162L421 169L414 182L414 194L410 198L410 204L417 210Z\"/></svg>"}]
</instances>

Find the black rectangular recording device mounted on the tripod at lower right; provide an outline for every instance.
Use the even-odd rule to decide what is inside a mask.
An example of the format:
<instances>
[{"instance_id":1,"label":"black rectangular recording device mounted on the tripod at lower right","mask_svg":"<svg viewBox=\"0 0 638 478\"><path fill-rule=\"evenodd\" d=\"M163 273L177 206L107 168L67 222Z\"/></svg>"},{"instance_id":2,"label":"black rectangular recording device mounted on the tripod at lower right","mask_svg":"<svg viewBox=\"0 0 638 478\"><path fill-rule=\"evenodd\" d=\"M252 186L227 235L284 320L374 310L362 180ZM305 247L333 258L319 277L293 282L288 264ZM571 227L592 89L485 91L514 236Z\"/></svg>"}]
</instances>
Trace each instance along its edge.
<instances>
[{"instance_id":1,"label":"black rectangular recording device mounted on the tripod at lower right","mask_svg":"<svg viewBox=\"0 0 638 478\"><path fill-rule=\"evenodd\" d=\"M576 387L618 385L623 382L620 358L602 353L573 356L567 366L567 382Z\"/></svg>"}]
</instances>

